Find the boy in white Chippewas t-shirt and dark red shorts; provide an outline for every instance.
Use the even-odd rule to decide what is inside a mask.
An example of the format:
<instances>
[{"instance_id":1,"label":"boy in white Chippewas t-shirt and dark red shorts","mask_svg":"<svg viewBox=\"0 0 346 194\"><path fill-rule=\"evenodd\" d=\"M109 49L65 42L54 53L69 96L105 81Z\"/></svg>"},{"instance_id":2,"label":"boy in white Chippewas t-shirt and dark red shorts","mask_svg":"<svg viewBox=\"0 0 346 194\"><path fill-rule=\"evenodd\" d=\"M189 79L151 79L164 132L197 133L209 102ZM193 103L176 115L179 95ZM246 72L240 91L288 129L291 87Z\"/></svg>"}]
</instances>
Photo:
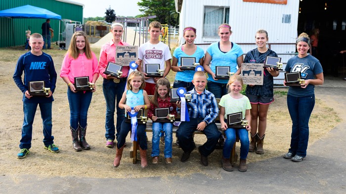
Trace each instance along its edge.
<instances>
[{"instance_id":1,"label":"boy in white Chippewas t-shirt and dark red shorts","mask_svg":"<svg viewBox=\"0 0 346 194\"><path fill-rule=\"evenodd\" d=\"M141 45L138 49L138 62L141 67L138 69L145 73L145 64L160 64L160 69L164 69L165 78L171 70L171 51L170 48L164 43L160 42L160 33L162 26L160 22L153 21L149 24L149 34L150 40L143 45ZM166 67L165 67L166 63ZM145 78L145 91L147 91L148 95L154 95L155 93L155 83L158 78Z\"/></svg>"}]
</instances>

